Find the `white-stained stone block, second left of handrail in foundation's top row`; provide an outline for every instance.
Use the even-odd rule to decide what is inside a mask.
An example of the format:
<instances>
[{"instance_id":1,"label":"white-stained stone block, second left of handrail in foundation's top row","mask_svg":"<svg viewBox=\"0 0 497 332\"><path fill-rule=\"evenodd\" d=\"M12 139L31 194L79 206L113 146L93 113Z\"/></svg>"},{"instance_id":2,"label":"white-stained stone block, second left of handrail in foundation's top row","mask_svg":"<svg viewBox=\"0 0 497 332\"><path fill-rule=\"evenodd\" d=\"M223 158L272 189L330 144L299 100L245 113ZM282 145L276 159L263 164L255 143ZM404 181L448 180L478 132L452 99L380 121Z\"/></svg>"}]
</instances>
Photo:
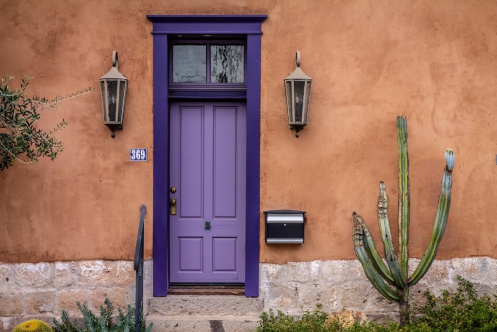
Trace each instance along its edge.
<instances>
[{"instance_id":1,"label":"white-stained stone block, second left of handrail in foundation's top row","mask_svg":"<svg viewBox=\"0 0 497 332\"><path fill-rule=\"evenodd\" d=\"M80 286L108 285L115 277L116 263L102 260L78 262L78 284Z\"/></svg>"}]
</instances>

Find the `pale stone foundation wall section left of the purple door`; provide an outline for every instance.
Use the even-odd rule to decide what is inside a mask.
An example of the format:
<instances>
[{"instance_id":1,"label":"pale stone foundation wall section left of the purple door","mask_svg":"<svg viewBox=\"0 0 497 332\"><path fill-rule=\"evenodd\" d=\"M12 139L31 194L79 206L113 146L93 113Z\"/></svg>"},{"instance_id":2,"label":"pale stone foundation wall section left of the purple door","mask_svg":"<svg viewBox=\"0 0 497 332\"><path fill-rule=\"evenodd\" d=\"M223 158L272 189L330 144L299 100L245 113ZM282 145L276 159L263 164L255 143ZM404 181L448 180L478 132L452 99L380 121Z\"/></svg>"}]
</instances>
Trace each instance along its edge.
<instances>
[{"instance_id":1,"label":"pale stone foundation wall section left of the purple door","mask_svg":"<svg viewBox=\"0 0 497 332\"><path fill-rule=\"evenodd\" d=\"M115 307L135 303L132 261L78 261L55 263L0 263L0 331L41 319L60 321L62 310L80 316L76 302L98 313L105 298ZM152 261L144 264L144 306L152 294Z\"/></svg>"}]
</instances>

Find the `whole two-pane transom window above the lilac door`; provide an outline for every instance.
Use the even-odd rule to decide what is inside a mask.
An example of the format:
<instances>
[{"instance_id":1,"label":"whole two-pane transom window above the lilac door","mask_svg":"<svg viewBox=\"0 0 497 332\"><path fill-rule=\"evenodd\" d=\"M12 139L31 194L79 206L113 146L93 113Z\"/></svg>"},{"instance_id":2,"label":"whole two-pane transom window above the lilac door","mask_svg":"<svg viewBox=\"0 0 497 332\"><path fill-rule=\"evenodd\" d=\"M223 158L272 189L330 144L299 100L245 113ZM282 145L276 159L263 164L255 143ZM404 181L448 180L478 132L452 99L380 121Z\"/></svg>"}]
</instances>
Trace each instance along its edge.
<instances>
[{"instance_id":1,"label":"whole two-pane transom window above the lilac door","mask_svg":"<svg viewBox=\"0 0 497 332\"><path fill-rule=\"evenodd\" d=\"M233 41L180 41L172 44L171 84L244 84L246 47Z\"/></svg>"}]
</instances>

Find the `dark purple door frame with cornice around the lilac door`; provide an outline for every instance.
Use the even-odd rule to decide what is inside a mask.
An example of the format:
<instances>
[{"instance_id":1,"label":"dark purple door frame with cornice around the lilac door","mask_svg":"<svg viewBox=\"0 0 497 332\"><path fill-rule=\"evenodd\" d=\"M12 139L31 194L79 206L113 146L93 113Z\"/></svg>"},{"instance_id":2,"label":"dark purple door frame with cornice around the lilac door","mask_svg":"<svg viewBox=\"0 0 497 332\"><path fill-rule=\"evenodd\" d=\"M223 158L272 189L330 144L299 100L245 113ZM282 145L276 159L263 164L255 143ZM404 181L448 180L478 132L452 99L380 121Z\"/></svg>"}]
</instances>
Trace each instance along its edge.
<instances>
[{"instance_id":1,"label":"dark purple door frame with cornice around the lilac door","mask_svg":"<svg viewBox=\"0 0 497 332\"><path fill-rule=\"evenodd\" d=\"M247 36L247 187L245 296L259 295L260 52L267 15L147 15L154 37L154 296L168 280L169 96L168 35Z\"/></svg>"}]
</instances>

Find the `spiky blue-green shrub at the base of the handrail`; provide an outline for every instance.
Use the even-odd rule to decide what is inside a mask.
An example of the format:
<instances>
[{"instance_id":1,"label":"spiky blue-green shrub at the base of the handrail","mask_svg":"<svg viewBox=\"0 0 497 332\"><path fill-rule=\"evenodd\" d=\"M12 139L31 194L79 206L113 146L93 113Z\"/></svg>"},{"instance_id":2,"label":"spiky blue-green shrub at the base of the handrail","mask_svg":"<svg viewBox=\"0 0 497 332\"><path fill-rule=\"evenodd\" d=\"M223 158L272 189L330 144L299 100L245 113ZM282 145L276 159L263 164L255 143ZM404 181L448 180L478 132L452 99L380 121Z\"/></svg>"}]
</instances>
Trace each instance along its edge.
<instances>
[{"instance_id":1,"label":"spiky blue-green shrub at the base of the handrail","mask_svg":"<svg viewBox=\"0 0 497 332\"><path fill-rule=\"evenodd\" d=\"M100 317L88 309L86 304L76 302L78 308L83 314L84 328L80 327L76 321L70 321L66 311L62 311L61 320L59 323L54 318L54 332L131 332L135 331L135 309L128 305L127 311L124 312L121 308L117 308L118 316L113 317L114 306L109 299L105 299L105 308L100 306ZM153 323L146 328L143 315L140 316L141 329L140 332L150 332Z\"/></svg>"}]
</instances>

